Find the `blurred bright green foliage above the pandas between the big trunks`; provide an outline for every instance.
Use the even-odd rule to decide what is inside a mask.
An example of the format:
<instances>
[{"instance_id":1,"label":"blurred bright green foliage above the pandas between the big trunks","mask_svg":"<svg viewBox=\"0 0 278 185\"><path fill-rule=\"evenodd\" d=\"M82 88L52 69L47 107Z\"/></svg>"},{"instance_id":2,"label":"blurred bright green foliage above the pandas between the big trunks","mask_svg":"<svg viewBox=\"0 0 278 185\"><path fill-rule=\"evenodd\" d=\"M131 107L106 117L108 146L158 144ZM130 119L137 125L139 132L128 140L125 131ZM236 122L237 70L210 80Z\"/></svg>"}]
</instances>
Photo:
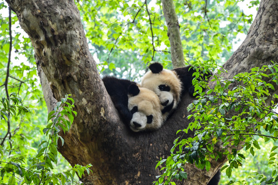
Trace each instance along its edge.
<instances>
[{"instance_id":1,"label":"blurred bright green foliage above the pandas between the big trunks","mask_svg":"<svg viewBox=\"0 0 278 185\"><path fill-rule=\"evenodd\" d=\"M223 63L231 56L231 41L247 33L253 20L236 3L175 1L187 63ZM172 67L161 1L78 1L77 6L102 75L135 80L151 61Z\"/></svg>"}]
</instances>

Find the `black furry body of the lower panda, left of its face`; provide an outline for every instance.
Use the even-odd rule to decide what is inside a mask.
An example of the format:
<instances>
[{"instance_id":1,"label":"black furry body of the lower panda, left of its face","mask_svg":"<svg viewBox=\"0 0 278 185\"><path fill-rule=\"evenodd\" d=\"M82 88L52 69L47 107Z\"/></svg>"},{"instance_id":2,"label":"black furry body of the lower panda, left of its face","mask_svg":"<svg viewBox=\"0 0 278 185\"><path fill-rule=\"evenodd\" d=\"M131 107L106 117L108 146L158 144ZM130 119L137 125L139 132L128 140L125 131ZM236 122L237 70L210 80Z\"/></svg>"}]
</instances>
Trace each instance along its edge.
<instances>
[{"instance_id":1,"label":"black furry body of the lower panda, left of its face","mask_svg":"<svg viewBox=\"0 0 278 185\"><path fill-rule=\"evenodd\" d=\"M115 77L104 77L102 81L123 121L129 124L132 114L128 110L128 87L131 85L137 86L136 83Z\"/></svg>"}]
</instances>

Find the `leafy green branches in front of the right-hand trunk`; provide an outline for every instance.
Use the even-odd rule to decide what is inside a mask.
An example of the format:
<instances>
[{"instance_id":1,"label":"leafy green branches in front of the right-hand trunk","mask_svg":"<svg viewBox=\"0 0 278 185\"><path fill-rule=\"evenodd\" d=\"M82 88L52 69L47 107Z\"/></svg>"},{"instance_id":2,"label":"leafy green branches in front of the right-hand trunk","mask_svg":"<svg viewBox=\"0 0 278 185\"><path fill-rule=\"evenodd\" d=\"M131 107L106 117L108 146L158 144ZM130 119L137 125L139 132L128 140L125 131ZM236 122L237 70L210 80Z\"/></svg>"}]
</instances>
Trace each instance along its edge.
<instances>
[{"instance_id":1,"label":"leafy green branches in front of the right-hand trunk","mask_svg":"<svg viewBox=\"0 0 278 185\"><path fill-rule=\"evenodd\" d=\"M173 179L181 179L177 174L186 173L183 165L188 162L209 171L209 161L223 155L227 156L229 163L221 171L231 177L233 170L242 167L246 159L246 154L240 149L244 148L255 156L255 151L262 150L258 138L265 142L278 139L278 114L274 111L276 105L273 102L278 95L271 93L273 85L278 85L277 64L252 68L251 72L239 73L231 80L214 76L213 81L216 83L214 88L207 87L207 92L199 92L199 98L188 106L192 112L188 119L193 118L193 121L177 132L187 134L191 130L195 137L174 141L171 156L160 159L157 164L158 167L166 161L165 167L161 168L164 172L156 184L169 184ZM201 89L198 83L195 89ZM217 150L218 144L224 146L221 151ZM273 146L269 156L271 176L254 174L261 184L272 184L278 180L277 148Z\"/></svg>"}]
</instances>

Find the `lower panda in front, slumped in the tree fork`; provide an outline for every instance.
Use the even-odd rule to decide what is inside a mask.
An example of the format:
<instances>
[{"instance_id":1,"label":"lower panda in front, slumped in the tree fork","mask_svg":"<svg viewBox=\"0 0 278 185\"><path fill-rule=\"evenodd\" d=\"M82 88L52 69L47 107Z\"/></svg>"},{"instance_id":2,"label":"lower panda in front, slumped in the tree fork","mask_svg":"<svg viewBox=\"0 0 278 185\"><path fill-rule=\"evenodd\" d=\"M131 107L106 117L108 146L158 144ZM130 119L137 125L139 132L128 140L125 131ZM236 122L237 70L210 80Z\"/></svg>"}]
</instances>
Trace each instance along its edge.
<instances>
[{"instance_id":1,"label":"lower panda in front, slumped in the tree fork","mask_svg":"<svg viewBox=\"0 0 278 185\"><path fill-rule=\"evenodd\" d=\"M104 77L102 81L123 121L132 131L156 130L162 125L162 105L153 91L115 77Z\"/></svg>"}]
</instances>

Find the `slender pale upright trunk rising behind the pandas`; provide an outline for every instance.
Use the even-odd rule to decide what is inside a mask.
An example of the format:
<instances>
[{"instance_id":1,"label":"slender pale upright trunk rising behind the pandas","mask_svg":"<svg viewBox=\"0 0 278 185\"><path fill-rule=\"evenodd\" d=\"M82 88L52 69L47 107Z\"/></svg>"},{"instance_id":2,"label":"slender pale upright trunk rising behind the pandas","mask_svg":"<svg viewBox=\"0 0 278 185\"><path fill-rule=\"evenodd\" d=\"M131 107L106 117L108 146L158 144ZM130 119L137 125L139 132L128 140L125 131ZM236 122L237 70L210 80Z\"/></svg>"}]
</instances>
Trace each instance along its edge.
<instances>
[{"instance_id":1,"label":"slender pale upright trunk rising behind the pandas","mask_svg":"<svg viewBox=\"0 0 278 185\"><path fill-rule=\"evenodd\" d=\"M184 67L183 49L181 45L179 22L173 0L162 0L162 9L168 27L168 37L171 45L171 58L174 68Z\"/></svg>"}]
</instances>

